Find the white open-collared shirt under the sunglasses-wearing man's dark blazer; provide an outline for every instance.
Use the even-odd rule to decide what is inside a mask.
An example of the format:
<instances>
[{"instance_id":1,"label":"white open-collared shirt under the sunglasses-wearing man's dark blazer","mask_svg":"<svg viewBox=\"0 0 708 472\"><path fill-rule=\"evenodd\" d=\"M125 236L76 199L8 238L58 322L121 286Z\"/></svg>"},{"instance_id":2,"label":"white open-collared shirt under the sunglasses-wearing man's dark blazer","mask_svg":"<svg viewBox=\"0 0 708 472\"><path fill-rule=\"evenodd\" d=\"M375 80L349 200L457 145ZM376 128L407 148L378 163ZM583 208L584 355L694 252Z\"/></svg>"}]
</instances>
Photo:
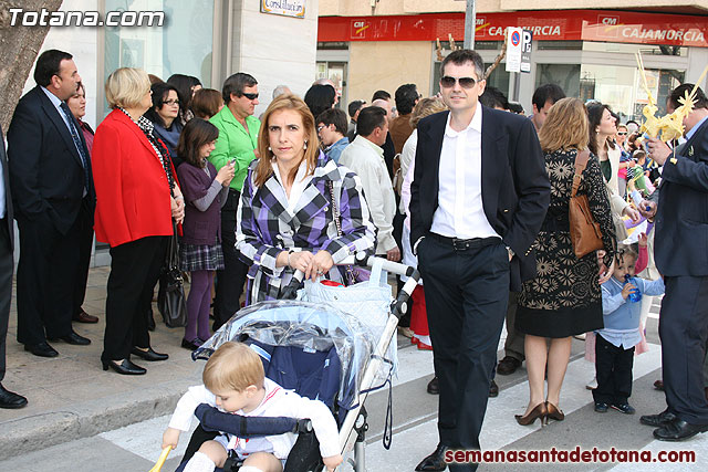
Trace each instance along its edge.
<instances>
[{"instance_id":1,"label":"white open-collared shirt under the sunglasses-wearing man's dark blazer","mask_svg":"<svg viewBox=\"0 0 708 472\"><path fill-rule=\"evenodd\" d=\"M430 231L444 237L501 238L482 207L482 107L467 128L456 132L448 115L440 150L438 208Z\"/></svg>"}]
</instances>

